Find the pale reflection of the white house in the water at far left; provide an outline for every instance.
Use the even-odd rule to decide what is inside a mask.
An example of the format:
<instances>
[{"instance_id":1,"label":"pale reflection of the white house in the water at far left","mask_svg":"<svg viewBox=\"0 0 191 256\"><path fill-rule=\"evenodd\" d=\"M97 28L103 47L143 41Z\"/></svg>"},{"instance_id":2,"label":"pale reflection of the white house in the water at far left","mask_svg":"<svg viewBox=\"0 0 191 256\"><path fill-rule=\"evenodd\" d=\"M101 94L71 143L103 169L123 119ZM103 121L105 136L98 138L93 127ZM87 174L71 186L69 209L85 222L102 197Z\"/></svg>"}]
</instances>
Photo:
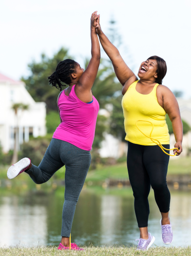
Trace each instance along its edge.
<instances>
[{"instance_id":1,"label":"pale reflection of the white house in the water at far left","mask_svg":"<svg viewBox=\"0 0 191 256\"><path fill-rule=\"evenodd\" d=\"M19 204L19 198L3 197L0 202L0 244L46 244L47 213L40 205Z\"/></svg>"}]
</instances>

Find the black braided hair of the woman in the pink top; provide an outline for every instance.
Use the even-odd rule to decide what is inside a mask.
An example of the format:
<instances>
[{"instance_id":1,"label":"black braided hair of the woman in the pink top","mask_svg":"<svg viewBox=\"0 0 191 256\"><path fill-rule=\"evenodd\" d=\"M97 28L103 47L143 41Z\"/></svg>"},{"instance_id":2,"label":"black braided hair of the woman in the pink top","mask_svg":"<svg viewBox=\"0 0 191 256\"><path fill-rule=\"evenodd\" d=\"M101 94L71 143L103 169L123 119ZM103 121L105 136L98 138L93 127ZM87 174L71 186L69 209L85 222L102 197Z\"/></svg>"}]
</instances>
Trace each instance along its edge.
<instances>
[{"instance_id":1,"label":"black braided hair of the woman in the pink top","mask_svg":"<svg viewBox=\"0 0 191 256\"><path fill-rule=\"evenodd\" d=\"M71 83L71 74L76 72L76 66L76 61L71 59L60 61L57 64L56 71L52 73L51 76L48 76L49 84L52 84L52 86L55 86L61 91L61 87L66 85L63 85L60 82L69 85Z\"/></svg>"}]
</instances>

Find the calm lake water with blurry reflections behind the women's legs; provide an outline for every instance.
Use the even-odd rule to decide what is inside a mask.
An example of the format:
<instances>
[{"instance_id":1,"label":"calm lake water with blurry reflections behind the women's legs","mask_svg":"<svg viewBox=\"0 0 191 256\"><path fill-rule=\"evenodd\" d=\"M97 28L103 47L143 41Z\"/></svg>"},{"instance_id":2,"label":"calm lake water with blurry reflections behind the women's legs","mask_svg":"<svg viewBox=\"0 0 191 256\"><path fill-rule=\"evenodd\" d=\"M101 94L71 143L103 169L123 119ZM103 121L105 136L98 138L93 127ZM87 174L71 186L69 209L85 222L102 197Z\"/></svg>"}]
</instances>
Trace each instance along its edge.
<instances>
[{"instance_id":1,"label":"calm lake water with blurry reflections behind the women's legs","mask_svg":"<svg viewBox=\"0 0 191 256\"><path fill-rule=\"evenodd\" d=\"M17 244L58 245L64 187L0 196L0 246ZM153 191L150 197L149 232L161 241L160 212ZM191 245L191 191L171 190L173 246ZM139 238L131 188L84 188L76 206L72 242L81 245L132 245Z\"/></svg>"}]
</instances>

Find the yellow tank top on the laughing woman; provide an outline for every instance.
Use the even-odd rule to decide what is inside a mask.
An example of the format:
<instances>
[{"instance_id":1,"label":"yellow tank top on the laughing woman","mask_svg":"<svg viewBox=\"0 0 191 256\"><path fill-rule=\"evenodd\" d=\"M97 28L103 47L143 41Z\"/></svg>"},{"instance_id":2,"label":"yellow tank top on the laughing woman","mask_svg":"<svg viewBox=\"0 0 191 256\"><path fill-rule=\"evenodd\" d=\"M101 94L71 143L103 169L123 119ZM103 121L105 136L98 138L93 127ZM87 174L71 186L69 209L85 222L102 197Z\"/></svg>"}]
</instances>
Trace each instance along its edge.
<instances>
[{"instance_id":1,"label":"yellow tank top on the laughing woman","mask_svg":"<svg viewBox=\"0 0 191 256\"><path fill-rule=\"evenodd\" d=\"M126 137L132 143L139 145L156 145L151 139L144 136L136 127L137 120L145 120L153 123L154 129L152 138L159 140L161 144L170 144L169 129L166 123L166 112L158 104L156 97L156 84L149 94L141 94L136 91L136 84L139 80L130 85L122 98L124 125ZM150 136L152 124L138 122L139 129Z\"/></svg>"}]
</instances>

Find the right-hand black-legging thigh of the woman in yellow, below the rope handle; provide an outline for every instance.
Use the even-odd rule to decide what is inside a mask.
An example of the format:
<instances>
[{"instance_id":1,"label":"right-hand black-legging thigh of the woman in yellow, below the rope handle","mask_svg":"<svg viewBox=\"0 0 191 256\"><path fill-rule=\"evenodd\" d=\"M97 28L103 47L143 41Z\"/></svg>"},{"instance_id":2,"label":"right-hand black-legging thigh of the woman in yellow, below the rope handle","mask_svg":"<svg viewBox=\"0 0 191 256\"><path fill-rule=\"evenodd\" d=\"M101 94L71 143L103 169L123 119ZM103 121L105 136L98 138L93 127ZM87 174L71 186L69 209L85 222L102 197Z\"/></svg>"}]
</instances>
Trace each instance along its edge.
<instances>
[{"instance_id":1,"label":"right-hand black-legging thigh of the woman in yellow, below the rope handle","mask_svg":"<svg viewBox=\"0 0 191 256\"><path fill-rule=\"evenodd\" d=\"M167 149L170 148L170 145L163 146ZM152 186L155 184L166 184L169 158L158 145L146 146L143 154L143 162Z\"/></svg>"}]
</instances>

